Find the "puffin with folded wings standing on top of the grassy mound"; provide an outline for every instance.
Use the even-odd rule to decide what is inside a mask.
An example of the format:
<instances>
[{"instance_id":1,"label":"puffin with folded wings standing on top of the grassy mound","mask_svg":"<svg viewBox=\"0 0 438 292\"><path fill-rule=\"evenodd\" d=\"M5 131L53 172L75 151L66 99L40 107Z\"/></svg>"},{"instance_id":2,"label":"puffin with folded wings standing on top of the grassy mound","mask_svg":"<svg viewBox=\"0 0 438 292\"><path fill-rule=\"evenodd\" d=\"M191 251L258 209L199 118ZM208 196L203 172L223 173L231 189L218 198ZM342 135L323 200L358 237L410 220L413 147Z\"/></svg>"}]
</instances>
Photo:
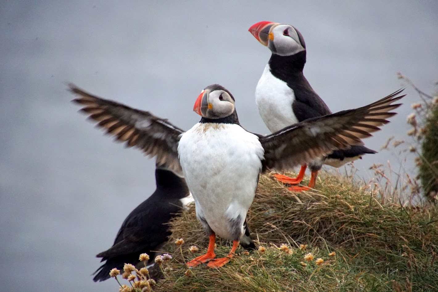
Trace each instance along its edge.
<instances>
[{"instance_id":1,"label":"puffin with folded wings standing on top of the grassy mound","mask_svg":"<svg viewBox=\"0 0 438 292\"><path fill-rule=\"evenodd\" d=\"M306 44L303 35L296 28L292 25L261 21L252 25L249 32L272 52L255 89L258 111L272 133L291 124L332 113L304 77ZM282 183L295 185L303 180L308 166L311 170L308 186L291 186L289 190L309 190L314 188L318 171L323 164L341 167L361 159L364 154L374 153L377 151L364 145L354 145L301 165L296 178L278 173L274 177Z\"/></svg>"}]
</instances>

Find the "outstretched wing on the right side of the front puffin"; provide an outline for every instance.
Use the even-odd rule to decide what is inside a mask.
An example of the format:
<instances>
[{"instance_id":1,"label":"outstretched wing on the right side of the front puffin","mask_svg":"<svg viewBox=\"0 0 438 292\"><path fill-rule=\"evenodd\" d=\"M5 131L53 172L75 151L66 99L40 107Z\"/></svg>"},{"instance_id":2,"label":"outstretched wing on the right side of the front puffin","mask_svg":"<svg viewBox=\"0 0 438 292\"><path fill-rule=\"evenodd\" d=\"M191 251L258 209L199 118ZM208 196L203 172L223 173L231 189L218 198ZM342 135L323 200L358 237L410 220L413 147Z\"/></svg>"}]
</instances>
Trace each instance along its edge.
<instances>
[{"instance_id":1,"label":"outstretched wing on the right side of the front puffin","mask_svg":"<svg viewBox=\"0 0 438 292\"><path fill-rule=\"evenodd\" d=\"M333 150L362 145L360 139L372 136L370 133L389 123L387 118L396 115L390 111L401 105L392 103L405 96L397 96L402 91L368 106L305 120L260 138L265 148L266 166L277 170L290 169Z\"/></svg>"}]
</instances>

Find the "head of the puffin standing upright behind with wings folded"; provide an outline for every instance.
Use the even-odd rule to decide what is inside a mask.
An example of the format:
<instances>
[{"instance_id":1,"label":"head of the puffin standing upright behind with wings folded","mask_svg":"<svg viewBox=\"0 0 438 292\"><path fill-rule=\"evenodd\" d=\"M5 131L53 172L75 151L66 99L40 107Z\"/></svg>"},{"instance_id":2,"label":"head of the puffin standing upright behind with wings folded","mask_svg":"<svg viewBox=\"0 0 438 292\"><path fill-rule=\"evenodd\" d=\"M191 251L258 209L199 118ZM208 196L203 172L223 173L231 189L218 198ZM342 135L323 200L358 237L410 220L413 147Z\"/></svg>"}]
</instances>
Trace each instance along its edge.
<instances>
[{"instance_id":1,"label":"head of the puffin standing upright behind with wings folded","mask_svg":"<svg viewBox=\"0 0 438 292\"><path fill-rule=\"evenodd\" d=\"M248 31L273 54L291 56L306 50L303 35L292 25L260 21Z\"/></svg>"}]
</instances>

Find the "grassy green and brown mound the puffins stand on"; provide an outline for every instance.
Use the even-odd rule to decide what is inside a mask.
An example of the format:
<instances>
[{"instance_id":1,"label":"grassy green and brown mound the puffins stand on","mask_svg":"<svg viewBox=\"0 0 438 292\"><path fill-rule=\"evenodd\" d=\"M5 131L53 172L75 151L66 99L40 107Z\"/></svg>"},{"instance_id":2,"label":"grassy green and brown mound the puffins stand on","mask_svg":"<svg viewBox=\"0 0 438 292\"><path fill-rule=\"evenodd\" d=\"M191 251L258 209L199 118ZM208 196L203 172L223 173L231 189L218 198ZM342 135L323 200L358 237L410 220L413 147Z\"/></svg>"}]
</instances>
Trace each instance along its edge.
<instances>
[{"instance_id":1,"label":"grassy green and brown mound the puffins stand on","mask_svg":"<svg viewBox=\"0 0 438 292\"><path fill-rule=\"evenodd\" d=\"M239 248L220 269L187 269L208 240L194 207L184 211L171 224L165 250L173 260L162 267L154 291L438 291L436 209L390 204L370 186L339 175L322 174L316 187L292 193L261 176L248 224L265 252ZM178 238L182 246L173 244ZM283 243L291 254L278 248ZM230 243L217 244L216 255L225 256ZM192 245L197 253L188 250ZM306 253L314 260L305 261ZM324 260L319 266L317 258Z\"/></svg>"}]
</instances>

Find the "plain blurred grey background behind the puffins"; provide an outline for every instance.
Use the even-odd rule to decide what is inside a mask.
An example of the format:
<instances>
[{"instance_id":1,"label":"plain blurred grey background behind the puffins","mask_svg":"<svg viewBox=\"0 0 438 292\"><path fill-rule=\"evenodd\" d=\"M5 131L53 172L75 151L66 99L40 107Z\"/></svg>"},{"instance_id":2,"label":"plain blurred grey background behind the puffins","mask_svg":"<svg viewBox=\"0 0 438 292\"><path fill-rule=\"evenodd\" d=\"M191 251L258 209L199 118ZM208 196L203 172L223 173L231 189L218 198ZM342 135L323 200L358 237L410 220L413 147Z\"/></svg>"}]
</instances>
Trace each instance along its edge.
<instances>
[{"instance_id":1,"label":"plain blurred grey background behind the puffins","mask_svg":"<svg viewBox=\"0 0 438 292\"><path fill-rule=\"evenodd\" d=\"M438 77L438 2L12 1L0 4L0 277L3 291L117 291L92 282L125 216L155 189L154 161L124 149L78 114L65 89L149 110L189 129L199 92L219 83L240 121L268 130L254 90L270 52L247 32L258 21L294 25L305 74L332 111L401 87L430 92ZM367 139L403 137L417 101ZM372 163L395 155L367 155ZM395 165L394 168L398 166Z\"/></svg>"}]
</instances>

